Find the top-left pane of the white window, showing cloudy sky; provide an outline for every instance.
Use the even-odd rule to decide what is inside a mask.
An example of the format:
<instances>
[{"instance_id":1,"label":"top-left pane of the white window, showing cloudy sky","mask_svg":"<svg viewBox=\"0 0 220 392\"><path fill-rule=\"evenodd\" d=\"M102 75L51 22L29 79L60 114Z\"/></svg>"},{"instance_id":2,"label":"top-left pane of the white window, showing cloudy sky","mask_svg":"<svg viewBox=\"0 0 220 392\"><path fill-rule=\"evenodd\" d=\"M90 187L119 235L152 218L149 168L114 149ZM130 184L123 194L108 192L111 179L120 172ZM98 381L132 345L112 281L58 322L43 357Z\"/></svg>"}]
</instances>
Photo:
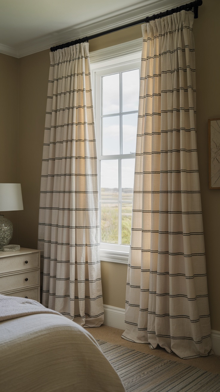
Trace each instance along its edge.
<instances>
[{"instance_id":1,"label":"top-left pane of the white window, showing cloudy sky","mask_svg":"<svg viewBox=\"0 0 220 392\"><path fill-rule=\"evenodd\" d=\"M102 114L120 112L119 73L102 78Z\"/></svg>"}]
</instances>

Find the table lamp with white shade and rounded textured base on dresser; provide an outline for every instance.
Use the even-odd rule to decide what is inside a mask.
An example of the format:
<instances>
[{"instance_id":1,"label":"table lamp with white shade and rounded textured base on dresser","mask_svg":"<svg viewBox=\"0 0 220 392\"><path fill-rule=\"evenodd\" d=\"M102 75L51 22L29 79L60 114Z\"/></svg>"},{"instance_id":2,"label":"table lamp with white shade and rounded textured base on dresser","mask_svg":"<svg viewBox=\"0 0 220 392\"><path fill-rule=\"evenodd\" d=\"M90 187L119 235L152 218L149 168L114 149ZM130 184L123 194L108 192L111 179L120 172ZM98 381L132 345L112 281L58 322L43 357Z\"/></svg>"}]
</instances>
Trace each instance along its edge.
<instances>
[{"instance_id":1,"label":"table lamp with white shade and rounded textured base on dresser","mask_svg":"<svg viewBox=\"0 0 220 392\"><path fill-rule=\"evenodd\" d=\"M0 183L0 211L23 210L21 184ZM15 251L20 245L8 245L13 234L13 225L0 214L0 251Z\"/></svg>"}]
</instances>

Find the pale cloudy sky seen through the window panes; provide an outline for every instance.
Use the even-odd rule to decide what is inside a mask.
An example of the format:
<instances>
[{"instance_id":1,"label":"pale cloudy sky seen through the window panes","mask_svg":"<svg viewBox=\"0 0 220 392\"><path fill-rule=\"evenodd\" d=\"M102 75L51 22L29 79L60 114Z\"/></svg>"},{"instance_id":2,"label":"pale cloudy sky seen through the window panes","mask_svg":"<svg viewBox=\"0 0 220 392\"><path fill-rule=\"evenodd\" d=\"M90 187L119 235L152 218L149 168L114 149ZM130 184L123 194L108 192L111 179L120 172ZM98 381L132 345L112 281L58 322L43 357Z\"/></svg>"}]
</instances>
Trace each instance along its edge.
<instances>
[{"instance_id":1,"label":"pale cloudy sky seen through the window panes","mask_svg":"<svg viewBox=\"0 0 220 392\"><path fill-rule=\"evenodd\" d=\"M102 154L120 154L120 116L122 117L122 153L135 153L139 99L139 69L102 78ZM120 110L121 109L121 110ZM123 114L126 113L126 114ZM122 159L122 188L133 188L135 158ZM101 161L101 188L118 188L118 160Z\"/></svg>"}]
</instances>

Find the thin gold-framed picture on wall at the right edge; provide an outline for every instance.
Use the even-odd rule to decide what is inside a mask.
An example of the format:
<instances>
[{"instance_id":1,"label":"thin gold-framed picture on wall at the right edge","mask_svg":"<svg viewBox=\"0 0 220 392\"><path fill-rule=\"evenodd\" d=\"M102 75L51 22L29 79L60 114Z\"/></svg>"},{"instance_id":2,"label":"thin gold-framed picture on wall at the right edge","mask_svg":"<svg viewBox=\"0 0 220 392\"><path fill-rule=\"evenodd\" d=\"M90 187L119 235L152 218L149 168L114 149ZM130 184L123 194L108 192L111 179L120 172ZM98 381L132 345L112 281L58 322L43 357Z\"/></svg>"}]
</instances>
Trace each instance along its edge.
<instances>
[{"instance_id":1,"label":"thin gold-framed picture on wall at the right edge","mask_svg":"<svg viewBox=\"0 0 220 392\"><path fill-rule=\"evenodd\" d=\"M220 118L211 118L209 125L209 189L220 189Z\"/></svg>"}]
</instances>

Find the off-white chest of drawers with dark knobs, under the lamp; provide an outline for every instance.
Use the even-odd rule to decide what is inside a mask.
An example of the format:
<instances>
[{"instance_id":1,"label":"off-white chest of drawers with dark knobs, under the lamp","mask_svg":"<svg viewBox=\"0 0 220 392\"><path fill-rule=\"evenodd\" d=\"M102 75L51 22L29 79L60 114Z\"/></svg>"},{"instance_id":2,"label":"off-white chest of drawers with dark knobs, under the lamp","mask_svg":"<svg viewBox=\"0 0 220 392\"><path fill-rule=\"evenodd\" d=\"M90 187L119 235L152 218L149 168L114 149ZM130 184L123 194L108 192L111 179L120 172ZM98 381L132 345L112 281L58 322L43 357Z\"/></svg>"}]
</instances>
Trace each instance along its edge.
<instances>
[{"instance_id":1,"label":"off-white chest of drawers with dark knobs, under the lamp","mask_svg":"<svg viewBox=\"0 0 220 392\"><path fill-rule=\"evenodd\" d=\"M40 250L0 252L0 294L40 302Z\"/></svg>"}]
</instances>

